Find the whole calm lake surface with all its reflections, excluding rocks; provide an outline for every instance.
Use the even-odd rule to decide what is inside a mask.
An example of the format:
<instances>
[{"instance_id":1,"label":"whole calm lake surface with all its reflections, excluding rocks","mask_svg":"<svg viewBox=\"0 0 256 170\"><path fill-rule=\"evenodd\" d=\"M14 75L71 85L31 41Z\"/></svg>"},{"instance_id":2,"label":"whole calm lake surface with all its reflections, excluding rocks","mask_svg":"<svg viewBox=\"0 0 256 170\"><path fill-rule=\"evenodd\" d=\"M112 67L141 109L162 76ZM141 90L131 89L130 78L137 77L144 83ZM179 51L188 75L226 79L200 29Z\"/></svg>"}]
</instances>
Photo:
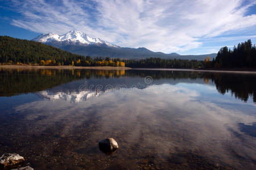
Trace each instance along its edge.
<instances>
[{"instance_id":1,"label":"whole calm lake surface with all its reflections, excluding rocks","mask_svg":"<svg viewBox=\"0 0 256 170\"><path fill-rule=\"evenodd\" d=\"M0 70L0 154L35 169L255 169L256 75ZM98 141L113 137L106 155Z\"/></svg>"}]
</instances>

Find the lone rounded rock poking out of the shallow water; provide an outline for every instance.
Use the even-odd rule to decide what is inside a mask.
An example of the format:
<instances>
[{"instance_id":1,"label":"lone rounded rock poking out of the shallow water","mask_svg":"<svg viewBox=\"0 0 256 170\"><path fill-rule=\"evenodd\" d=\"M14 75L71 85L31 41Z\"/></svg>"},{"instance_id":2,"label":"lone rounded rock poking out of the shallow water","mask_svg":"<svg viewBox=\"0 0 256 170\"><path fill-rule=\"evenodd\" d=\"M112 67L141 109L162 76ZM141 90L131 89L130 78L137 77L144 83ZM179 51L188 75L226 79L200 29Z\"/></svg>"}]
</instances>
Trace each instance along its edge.
<instances>
[{"instance_id":1,"label":"lone rounded rock poking out of the shallow water","mask_svg":"<svg viewBox=\"0 0 256 170\"><path fill-rule=\"evenodd\" d=\"M106 154L111 154L118 149L118 144L115 139L106 138L98 143L98 147L100 147L100 150L105 152Z\"/></svg>"}]
</instances>

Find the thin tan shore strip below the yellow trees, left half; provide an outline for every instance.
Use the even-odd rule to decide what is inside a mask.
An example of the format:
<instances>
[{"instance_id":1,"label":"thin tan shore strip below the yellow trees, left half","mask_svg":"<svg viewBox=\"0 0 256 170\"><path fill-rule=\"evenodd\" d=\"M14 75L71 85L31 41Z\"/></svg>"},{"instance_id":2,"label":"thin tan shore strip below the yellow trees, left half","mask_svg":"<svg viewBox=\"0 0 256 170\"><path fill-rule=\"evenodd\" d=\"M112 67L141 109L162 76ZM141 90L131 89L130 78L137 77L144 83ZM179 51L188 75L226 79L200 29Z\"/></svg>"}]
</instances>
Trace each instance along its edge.
<instances>
[{"instance_id":1,"label":"thin tan shore strip below the yellow trees, left half","mask_svg":"<svg viewBox=\"0 0 256 170\"><path fill-rule=\"evenodd\" d=\"M91 69L91 70L129 70L130 67L110 67L110 66L29 66L29 65L0 65L6 69Z\"/></svg>"}]
</instances>

